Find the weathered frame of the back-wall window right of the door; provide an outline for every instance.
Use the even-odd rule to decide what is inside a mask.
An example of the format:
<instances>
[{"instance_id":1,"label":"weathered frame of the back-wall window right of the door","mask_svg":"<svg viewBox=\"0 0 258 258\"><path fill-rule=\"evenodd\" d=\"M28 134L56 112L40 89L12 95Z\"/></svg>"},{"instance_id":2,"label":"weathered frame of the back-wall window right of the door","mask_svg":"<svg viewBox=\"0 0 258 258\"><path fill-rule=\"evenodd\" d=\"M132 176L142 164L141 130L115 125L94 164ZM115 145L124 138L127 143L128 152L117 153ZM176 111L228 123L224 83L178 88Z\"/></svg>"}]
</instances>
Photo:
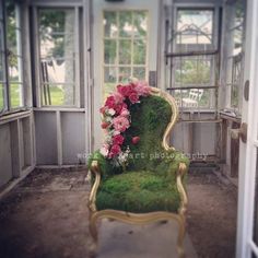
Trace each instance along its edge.
<instances>
[{"instance_id":1,"label":"weathered frame of the back-wall window right of the door","mask_svg":"<svg viewBox=\"0 0 258 258\"><path fill-rule=\"evenodd\" d=\"M218 54L219 54L219 25L220 25L220 7L216 5L216 4L213 4L213 3L196 3L195 5L192 4L189 4L189 3L174 3L174 8L173 8L173 20L172 20L172 28L173 28L173 32L176 32L177 31L177 17L178 17L178 11L180 10L207 10L207 11L212 11L213 12L213 24L212 24L212 45L213 45L213 50L210 51L209 55L195 55L192 56L194 58L199 58L201 56L207 56L209 57L210 55L213 55L213 61L211 61L211 72L212 72L212 81L213 81L213 85L206 85L206 86L181 86L180 89L179 87L176 87L175 86L175 67L173 67L173 70L171 71L171 79L172 81L169 83L166 82L166 84L169 84L173 85L172 87L167 87L167 91L174 95L175 91L176 90L196 90L196 89L199 89L199 90L209 90L209 105L208 106L197 106L197 107L187 107L187 106L183 106L183 105L179 105L179 109L181 112L189 112L189 110L196 110L196 112L216 112L218 109L218 91L219 91L219 78L218 78L218 71L216 71L216 68L218 67ZM172 35L171 35L172 36ZM174 56L177 54L176 51L176 45L177 45L177 42L173 39L173 44L171 44L171 48L167 48L166 49L168 51L171 51L171 55ZM169 54L168 54L169 55ZM183 56L183 58L185 57L191 57L189 55L185 55ZM171 58L171 62L173 61L173 57L169 57ZM167 57L166 57L167 59ZM167 59L168 60L168 59ZM201 59L200 59L201 60ZM204 60L204 59L203 59ZM212 68L213 67L213 68ZM166 68L167 69L167 68ZM169 72L166 73L166 78L169 75ZM167 79L165 79L167 81ZM212 90L214 91L214 93L212 92ZM181 93L180 93L181 94ZM183 101L183 97L180 97L180 103ZM179 103L179 104L180 104Z\"/></svg>"}]
</instances>

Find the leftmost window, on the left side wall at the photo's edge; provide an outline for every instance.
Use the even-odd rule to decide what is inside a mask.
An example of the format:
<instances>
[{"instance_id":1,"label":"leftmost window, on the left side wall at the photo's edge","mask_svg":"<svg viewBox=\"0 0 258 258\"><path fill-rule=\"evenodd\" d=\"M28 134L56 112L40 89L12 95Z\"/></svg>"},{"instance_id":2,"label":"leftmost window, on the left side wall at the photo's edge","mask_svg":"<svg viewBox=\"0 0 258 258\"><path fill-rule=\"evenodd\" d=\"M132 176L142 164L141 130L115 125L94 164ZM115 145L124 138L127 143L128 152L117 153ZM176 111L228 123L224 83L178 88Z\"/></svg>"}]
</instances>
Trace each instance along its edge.
<instances>
[{"instance_id":1,"label":"leftmost window, on the left side wall at the photo's edge","mask_svg":"<svg viewBox=\"0 0 258 258\"><path fill-rule=\"evenodd\" d=\"M20 5L14 0L0 5L0 112L3 113L24 106L23 55Z\"/></svg>"}]
</instances>

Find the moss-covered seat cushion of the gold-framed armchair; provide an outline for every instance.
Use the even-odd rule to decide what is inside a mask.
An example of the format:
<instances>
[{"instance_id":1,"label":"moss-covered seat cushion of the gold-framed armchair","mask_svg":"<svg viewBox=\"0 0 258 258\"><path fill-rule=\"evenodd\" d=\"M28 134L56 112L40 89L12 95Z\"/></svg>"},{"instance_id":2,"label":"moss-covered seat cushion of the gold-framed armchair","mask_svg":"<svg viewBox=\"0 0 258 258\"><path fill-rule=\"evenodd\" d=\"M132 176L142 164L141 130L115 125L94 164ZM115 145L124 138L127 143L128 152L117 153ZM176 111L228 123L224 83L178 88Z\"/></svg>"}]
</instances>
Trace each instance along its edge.
<instances>
[{"instance_id":1,"label":"moss-covered seat cushion of the gold-framed armchair","mask_svg":"<svg viewBox=\"0 0 258 258\"><path fill-rule=\"evenodd\" d=\"M177 212L180 203L175 181L154 172L126 172L102 181L97 210L114 209L134 213Z\"/></svg>"}]
</instances>

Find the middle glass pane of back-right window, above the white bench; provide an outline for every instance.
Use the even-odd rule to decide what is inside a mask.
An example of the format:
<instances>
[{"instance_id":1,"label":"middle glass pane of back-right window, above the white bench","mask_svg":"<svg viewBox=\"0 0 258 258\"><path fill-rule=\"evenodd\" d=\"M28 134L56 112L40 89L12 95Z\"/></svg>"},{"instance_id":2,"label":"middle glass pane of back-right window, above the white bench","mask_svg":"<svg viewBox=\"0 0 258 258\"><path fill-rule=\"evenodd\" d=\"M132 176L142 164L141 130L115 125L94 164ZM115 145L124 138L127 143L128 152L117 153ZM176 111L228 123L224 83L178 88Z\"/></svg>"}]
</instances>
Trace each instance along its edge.
<instances>
[{"instance_id":1,"label":"middle glass pane of back-right window, above the white bench","mask_svg":"<svg viewBox=\"0 0 258 258\"><path fill-rule=\"evenodd\" d=\"M175 58L175 85L212 85L212 57Z\"/></svg>"}]
</instances>

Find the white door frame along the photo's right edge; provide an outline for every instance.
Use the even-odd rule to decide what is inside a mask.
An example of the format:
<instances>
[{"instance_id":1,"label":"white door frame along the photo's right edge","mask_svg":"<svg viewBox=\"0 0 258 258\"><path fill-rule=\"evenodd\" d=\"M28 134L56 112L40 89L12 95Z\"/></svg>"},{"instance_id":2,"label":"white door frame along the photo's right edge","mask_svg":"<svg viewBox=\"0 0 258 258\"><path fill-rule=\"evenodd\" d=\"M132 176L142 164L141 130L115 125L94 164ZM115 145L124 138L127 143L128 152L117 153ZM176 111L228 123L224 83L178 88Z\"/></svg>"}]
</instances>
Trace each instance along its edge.
<instances>
[{"instance_id":1,"label":"white door frame along the photo's right edge","mask_svg":"<svg viewBox=\"0 0 258 258\"><path fill-rule=\"evenodd\" d=\"M244 82L249 80L249 99L243 97L242 122L248 125L247 142L241 141L239 148L239 184L237 210L236 257L250 258L251 251L258 257L258 247L253 241L255 185L257 167L258 117L258 1L247 3L245 71ZM244 94L243 94L244 95Z\"/></svg>"}]
</instances>

